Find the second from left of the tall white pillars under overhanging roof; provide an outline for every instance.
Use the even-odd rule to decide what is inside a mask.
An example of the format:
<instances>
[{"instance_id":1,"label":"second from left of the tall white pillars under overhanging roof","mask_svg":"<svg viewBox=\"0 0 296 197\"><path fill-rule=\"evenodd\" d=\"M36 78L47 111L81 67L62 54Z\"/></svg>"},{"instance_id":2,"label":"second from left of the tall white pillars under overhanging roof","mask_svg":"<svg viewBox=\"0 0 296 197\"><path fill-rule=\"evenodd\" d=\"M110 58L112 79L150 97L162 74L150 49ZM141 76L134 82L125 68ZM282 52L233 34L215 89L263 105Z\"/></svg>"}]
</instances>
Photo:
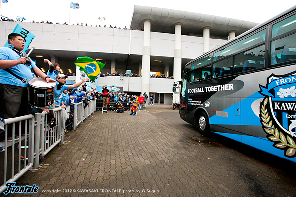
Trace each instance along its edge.
<instances>
[{"instance_id":1,"label":"second from left of the tall white pillars under overhanging roof","mask_svg":"<svg viewBox=\"0 0 296 197\"><path fill-rule=\"evenodd\" d=\"M176 23L175 24L175 56L174 56L174 65L173 65L174 82L182 80L181 79L181 73L182 73L181 33L182 33L182 23Z\"/></svg>"}]
</instances>

